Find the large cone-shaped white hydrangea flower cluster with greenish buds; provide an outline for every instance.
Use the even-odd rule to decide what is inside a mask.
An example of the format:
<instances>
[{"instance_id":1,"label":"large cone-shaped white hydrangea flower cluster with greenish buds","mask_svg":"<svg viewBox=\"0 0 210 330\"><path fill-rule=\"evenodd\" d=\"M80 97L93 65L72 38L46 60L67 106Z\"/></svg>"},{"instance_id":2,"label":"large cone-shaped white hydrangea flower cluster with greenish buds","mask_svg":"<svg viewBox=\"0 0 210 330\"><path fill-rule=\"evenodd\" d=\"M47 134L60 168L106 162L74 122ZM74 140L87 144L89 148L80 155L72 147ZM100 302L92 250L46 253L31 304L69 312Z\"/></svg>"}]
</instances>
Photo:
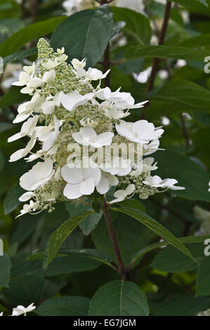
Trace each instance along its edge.
<instances>
[{"instance_id":1,"label":"large cone-shaped white hydrangea flower cluster with greenish buds","mask_svg":"<svg viewBox=\"0 0 210 330\"><path fill-rule=\"evenodd\" d=\"M32 99L19 105L13 122L25 122L20 133L8 138L12 142L28 137L29 142L14 152L10 161L23 157L28 162L39 160L20 178L20 186L27 190L20 201L29 201L20 216L44 209L51 212L56 202L84 202L93 192L105 194L115 186L119 187L114 193L117 202L135 193L146 199L156 192L184 189L175 186L174 179L151 176L157 164L152 157L143 158L159 149L164 130L146 120L135 123L123 120L129 116L129 110L143 107L147 101L135 104L131 94L121 92L120 88L114 92L108 87L100 88L100 80L108 71L105 74L96 68L86 71L86 60L73 59L72 65L67 64L64 51L62 48L54 53L40 39L38 72L34 65L23 67L19 81L14 83ZM98 81L96 88L92 81ZM32 152L36 142L39 149ZM82 154L79 163L72 145L79 147ZM127 153L124 155L122 145L125 149L130 145L134 148L133 159ZM107 152L112 147L117 147L117 155ZM88 159L88 165L84 165L84 159Z\"/></svg>"}]
</instances>

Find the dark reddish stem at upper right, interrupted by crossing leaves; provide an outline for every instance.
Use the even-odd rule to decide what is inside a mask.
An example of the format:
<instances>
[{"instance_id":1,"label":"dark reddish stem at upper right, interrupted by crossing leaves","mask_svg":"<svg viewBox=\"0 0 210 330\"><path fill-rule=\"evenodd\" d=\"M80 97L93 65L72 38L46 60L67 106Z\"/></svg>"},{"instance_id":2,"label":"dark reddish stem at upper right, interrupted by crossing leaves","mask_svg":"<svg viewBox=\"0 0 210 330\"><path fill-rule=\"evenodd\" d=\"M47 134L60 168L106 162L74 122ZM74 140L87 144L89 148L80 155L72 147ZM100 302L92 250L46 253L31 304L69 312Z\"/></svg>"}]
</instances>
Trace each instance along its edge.
<instances>
[{"instance_id":1,"label":"dark reddish stem at upper right, interrupted by crossing leaves","mask_svg":"<svg viewBox=\"0 0 210 330\"><path fill-rule=\"evenodd\" d=\"M168 26L168 22L169 22L169 16L170 16L170 11L171 11L171 2L167 1L166 2L166 7L165 7L165 12L164 12L164 19L162 22L162 28L159 34L159 41L158 41L158 45L161 46L164 44L164 39L166 36L166 29ZM153 58L153 62L152 62L152 71L150 74L150 79L148 81L147 84L147 93L149 93L150 91L152 91L153 86L154 86L154 82L155 82L155 77L157 74L157 68L158 68L158 63L159 63L159 58ZM141 112L142 114L142 119L144 118L144 111Z\"/></svg>"}]
</instances>

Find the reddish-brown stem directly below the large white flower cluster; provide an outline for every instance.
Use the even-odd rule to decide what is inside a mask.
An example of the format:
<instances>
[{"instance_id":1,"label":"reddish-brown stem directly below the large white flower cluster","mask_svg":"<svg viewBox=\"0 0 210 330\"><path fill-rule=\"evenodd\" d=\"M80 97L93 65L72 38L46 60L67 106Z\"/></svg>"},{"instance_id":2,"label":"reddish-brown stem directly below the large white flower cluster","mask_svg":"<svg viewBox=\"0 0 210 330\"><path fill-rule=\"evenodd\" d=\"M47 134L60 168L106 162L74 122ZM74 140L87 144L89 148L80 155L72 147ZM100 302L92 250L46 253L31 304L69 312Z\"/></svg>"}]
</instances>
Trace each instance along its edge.
<instances>
[{"instance_id":1,"label":"reddish-brown stem directly below the large white flower cluster","mask_svg":"<svg viewBox=\"0 0 210 330\"><path fill-rule=\"evenodd\" d=\"M112 246L113 246L113 249L114 249L114 254L116 256L118 271L119 271L119 274L120 274L122 280L124 280L124 279L126 279L126 269L124 268L124 263L122 261L122 256L121 256L121 253L119 251L119 246L118 246L118 243L117 243L117 237L114 233L114 227L112 225L110 210L108 209L108 205L107 205L107 202L106 202L105 198L104 198L104 201L103 201L103 215L105 217L105 221L106 221L106 224L107 224L107 230L109 232L110 240L112 242Z\"/></svg>"}]
</instances>

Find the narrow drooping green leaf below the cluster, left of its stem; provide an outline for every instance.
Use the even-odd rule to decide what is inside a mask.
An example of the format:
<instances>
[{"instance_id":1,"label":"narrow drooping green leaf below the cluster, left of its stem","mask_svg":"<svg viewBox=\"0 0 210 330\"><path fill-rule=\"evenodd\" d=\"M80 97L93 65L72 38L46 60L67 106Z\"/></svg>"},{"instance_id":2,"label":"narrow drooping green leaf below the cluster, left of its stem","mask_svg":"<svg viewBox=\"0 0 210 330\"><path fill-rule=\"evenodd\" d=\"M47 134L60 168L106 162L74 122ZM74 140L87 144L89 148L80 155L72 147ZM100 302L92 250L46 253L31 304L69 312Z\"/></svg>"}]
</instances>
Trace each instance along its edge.
<instances>
[{"instance_id":1,"label":"narrow drooping green leaf below the cluster, left of its stem","mask_svg":"<svg viewBox=\"0 0 210 330\"><path fill-rule=\"evenodd\" d=\"M44 260L44 268L47 268L51 263L56 253L58 252L61 244L65 241L65 239L71 234L71 232L79 225L79 223L89 216L94 211L86 211L84 213L79 214L78 216L73 216L69 220L65 221L60 227L58 227L55 232L51 235L48 240L48 244L46 247L46 259Z\"/></svg>"}]
</instances>

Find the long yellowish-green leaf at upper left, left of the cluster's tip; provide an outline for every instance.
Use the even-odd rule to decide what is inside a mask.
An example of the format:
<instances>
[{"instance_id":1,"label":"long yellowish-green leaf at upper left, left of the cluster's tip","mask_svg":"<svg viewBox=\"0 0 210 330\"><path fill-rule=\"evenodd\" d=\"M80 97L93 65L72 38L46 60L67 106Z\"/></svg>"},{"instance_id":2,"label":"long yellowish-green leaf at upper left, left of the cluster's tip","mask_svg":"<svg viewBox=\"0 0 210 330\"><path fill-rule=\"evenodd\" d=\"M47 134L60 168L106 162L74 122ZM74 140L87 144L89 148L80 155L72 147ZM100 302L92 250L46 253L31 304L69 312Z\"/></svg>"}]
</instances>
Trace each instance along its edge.
<instances>
[{"instance_id":1,"label":"long yellowish-green leaf at upper left, left of the cluster's tip","mask_svg":"<svg viewBox=\"0 0 210 330\"><path fill-rule=\"evenodd\" d=\"M65 16L58 16L23 27L0 45L0 56L6 58L6 56L22 48L27 42L50 34L63 20L65 20Z\"/></svg>"}]
</instances>

